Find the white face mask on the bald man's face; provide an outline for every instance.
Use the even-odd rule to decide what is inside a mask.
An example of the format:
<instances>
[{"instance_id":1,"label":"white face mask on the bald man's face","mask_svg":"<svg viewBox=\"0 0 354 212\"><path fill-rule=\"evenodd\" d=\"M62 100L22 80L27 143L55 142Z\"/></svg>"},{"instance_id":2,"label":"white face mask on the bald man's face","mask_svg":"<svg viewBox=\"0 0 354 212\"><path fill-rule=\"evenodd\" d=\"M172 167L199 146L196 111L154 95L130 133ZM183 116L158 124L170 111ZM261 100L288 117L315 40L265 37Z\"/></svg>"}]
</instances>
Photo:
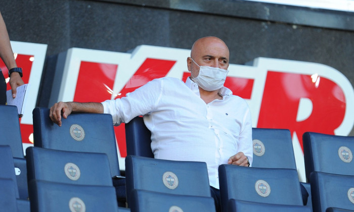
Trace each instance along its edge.
<instances>
[{"instance_id":1,"label":"white face mask on the bald man's face","mask_svg":"<svg viewBox=\"0 0 354 212\"><path fill-rule=\"evenodd\" d=\"M199 66L193 59L192 61ZM226 76L229 73L228 70L210 66L199 66L199 68L197 77L194 77L191 72L192 80L197 83L199 87L207 91L213 91L224 86Z\"/></svg>"}]
</instances>

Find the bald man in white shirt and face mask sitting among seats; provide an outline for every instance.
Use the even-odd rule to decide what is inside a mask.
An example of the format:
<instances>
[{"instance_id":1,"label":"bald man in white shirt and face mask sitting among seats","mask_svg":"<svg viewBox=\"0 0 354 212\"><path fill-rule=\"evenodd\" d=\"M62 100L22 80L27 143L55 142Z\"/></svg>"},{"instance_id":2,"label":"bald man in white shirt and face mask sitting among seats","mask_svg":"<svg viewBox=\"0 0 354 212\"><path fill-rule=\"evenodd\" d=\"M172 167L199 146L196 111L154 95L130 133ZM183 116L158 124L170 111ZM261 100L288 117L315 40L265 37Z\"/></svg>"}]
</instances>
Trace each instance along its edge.
<instances>
[{"instance_id":1,"label":"bald man in white shirt and face mask sitting among seats","mask_svg":"<svg viewBox=\"0 0 354 212\"><path fill-rule=\"evenodd\" d=\"M151 131L155 158L206 162L211 193L220 210L218 166L252 164L252 125L244 99L224 87L229 48L217 37L203 37L192 46L187 67L191 76L154 79L126 97L104 102L58 102L50 118L59 126L71 113L107 113L113 124L143 115Z\"/></svg>"}]
</instances>

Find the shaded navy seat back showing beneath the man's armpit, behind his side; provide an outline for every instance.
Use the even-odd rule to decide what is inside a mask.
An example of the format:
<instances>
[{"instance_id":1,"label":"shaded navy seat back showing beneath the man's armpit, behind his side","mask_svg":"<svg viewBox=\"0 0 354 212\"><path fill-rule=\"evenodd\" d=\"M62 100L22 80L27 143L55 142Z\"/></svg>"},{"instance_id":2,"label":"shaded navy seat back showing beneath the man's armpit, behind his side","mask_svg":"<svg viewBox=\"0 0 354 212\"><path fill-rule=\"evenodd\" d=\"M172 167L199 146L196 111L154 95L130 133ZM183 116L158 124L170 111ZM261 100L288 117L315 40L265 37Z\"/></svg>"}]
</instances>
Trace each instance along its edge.
<instances>
[{"instance_id":1,"label":"shaded navy seat back showing beneath the man's armpit, behind his side","mask_svg":"<svg viewBox=\"0 0 354 212\"><path fill-rule=\"evenodd\" d=\"M151 132L145 126L143 117L135 117L125 124L127 155L154 157L151 150Z\"/></svg>"}]
</instances>

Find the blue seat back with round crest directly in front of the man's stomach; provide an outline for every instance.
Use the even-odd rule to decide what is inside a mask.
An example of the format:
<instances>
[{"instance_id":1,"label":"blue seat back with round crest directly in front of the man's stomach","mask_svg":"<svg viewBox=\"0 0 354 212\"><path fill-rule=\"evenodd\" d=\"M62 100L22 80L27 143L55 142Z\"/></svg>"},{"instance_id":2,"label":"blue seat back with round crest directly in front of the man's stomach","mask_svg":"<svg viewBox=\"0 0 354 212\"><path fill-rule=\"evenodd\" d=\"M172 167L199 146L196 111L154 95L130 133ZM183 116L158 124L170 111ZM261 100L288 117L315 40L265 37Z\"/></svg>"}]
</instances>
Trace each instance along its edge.
<instances>
[{"instance_id":1,"label":"blue seat back with round crest directly in front of the man's stomach","mask_svg":"<svg viewBox=\"0 0 354 212\"><path fill-rule=\"evenodd\" d=\"M127 155L126 192L142 189L171 194L211 197L206 163L168 161Z\"/></svg>"}]
</instances>

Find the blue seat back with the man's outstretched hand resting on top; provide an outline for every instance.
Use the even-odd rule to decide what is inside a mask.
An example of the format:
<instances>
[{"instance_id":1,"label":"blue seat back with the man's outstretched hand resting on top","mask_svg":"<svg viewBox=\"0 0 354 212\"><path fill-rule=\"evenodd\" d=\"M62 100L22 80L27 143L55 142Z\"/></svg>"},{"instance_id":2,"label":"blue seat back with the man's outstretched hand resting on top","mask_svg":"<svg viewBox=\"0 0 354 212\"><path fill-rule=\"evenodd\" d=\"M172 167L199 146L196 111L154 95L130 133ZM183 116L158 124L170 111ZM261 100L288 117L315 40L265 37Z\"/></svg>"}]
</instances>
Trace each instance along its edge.
<instances>
[{"instance_id":1,"label":"blue seat back with the man's outstretched hand resting on top","mask_svg":"<svg viewBox=\"0 0 354 212\"><path fill-rule=\"evenodd\" d=\"M71 114L62 126L49 118L49 109L33 110L34 146L66 151L100 152L108 156L112 176L120 176L117 144L109 114Z\"/></svg>"}]
</instances>

